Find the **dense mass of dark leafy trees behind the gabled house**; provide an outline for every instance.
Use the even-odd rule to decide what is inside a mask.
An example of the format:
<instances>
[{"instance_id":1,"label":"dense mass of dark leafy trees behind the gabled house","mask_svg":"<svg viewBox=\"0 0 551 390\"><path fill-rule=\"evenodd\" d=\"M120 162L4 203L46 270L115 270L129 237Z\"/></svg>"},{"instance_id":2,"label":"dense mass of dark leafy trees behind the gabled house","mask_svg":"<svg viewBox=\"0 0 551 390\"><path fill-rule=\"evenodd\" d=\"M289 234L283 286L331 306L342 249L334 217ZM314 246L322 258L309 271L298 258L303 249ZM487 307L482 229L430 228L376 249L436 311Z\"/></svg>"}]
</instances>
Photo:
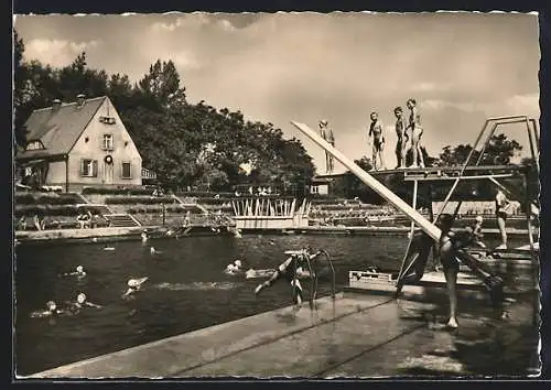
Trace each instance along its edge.
<instances>
[{"instance_id":1,"label":"dense mass of dark leafy trees behind the gabled house","mask_svg":"<svg viewBox=\"0 0 551 390\"><path fill-rule=\"evenodd\" d=\"M240 111L191 104L172 61L158 59L132 85L127 75L91 69L86 53L65 67L24 61L14 32L15 140L25 144L24 122L54 99L74 101L107 95L143 158L165 186L229 189L239 183L302 186L315 170L296 139L272 123L245 120ZM248 164L249 172L241 166Z\"/></svg>"}]
</instances>

